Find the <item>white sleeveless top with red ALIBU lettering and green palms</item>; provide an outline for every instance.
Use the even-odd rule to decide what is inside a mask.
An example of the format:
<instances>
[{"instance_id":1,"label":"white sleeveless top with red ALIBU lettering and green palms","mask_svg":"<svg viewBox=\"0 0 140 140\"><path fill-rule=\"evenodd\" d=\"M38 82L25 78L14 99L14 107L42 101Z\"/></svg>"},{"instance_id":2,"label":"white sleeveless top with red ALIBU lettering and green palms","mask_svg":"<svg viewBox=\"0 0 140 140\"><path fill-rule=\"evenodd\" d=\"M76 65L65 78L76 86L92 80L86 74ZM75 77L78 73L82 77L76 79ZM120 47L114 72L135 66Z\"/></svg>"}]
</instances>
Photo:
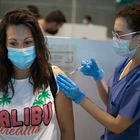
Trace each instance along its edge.
<instances>
[{"instance_id":1,"label":"white sleeveless top with red ALIBU lettering and green palms","mask_svg":"<svg viewBox=\"0 0 140 140\"><path fill-rule=\"evenodd\" d=\"M11 103L7 97L0 99L0 122L9 127L0 127L0 140L58 140L50 87L33 95L33 86L28 79L22 79L15 80L14 89Z\"/></svg>"}]
</instances>

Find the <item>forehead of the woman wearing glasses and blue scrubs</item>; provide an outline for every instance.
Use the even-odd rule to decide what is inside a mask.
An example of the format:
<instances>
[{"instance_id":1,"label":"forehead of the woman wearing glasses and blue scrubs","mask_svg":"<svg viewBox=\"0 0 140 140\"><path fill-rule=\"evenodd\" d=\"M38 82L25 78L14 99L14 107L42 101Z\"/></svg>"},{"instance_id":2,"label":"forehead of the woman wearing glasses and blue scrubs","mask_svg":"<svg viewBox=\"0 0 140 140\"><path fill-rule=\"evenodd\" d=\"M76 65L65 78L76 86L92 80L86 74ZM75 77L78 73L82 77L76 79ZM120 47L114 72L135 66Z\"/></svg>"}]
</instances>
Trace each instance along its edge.
<instances>
[{"instance_id":1,"label":"forehead of the woman wearing glasses and blue scrubs","mask_svg":"<svg viewBox=\"0 0 140 140\"><path fill-rule=\"evenodd\" d=\"M126 19L122 18L122 17L116 18L115 23L114 23L114 30L115 31L124 31L124 32L129 31L130 29L128 28Z\"/></svg>"}]
</instances>

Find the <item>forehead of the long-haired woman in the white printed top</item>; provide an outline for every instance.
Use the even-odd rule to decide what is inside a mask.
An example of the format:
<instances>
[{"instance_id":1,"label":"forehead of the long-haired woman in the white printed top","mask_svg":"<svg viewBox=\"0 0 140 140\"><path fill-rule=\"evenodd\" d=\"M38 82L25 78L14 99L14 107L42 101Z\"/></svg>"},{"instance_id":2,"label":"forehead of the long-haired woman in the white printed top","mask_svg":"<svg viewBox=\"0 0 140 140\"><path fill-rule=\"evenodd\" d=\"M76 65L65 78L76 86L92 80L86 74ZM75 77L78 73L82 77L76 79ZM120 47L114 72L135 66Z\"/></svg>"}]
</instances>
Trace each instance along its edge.
<instances>
[{"instance_id":1,"label":"forehead of the long-haired woman in the white printed top","mask_svg":"<svg viewBox=\"0 0 140 140\"><path fill-rule=\"evenodd\" d=\"M9 25L6 34L8 38L25 38L32 36L31 30L25 25Z\"/></svg>"}]
</instances>

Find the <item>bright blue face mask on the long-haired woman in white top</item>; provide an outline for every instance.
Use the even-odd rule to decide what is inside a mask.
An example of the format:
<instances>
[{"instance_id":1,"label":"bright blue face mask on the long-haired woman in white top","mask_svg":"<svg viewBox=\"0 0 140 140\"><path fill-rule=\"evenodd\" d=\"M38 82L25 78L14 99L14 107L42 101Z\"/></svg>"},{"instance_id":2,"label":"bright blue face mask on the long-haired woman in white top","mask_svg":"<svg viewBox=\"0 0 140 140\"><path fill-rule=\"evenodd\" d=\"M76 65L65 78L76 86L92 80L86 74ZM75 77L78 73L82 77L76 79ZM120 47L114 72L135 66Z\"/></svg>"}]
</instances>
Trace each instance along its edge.
<instances>
[{"instance_id":1,"label":"bright blue face mask on the long-haired woman in white top","mask_svg":"<svg viewBox=\"0 0 140 140\"><path fill-rule=\"evenodd\" d=\"M11 62L19 69L28 69L33 64L36 53L35 47L28 48L7 48L8 49L8 58Z\"/></svg>"}]
</instances>

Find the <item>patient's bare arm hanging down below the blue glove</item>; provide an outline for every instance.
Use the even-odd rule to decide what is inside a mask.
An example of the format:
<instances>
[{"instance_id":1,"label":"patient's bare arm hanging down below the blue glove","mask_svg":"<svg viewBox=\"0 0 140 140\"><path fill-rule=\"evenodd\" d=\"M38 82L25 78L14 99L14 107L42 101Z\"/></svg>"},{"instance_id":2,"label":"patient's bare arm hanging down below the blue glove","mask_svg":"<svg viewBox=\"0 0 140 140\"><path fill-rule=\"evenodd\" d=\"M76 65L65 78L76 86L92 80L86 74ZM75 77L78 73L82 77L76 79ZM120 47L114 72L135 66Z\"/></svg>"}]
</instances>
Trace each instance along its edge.
<instances>
[{"instance_id":1,"label":"patient's bare arm hanging down below the blue glove","mask_svg":"<svg viewBox=\"0 0 140 140\"><path fill-rule=\"evenodd\" d=\"M56 114L61 133L74 139L74 117L72 102L62 93L56 96L55 100Z\"/></svg>"}]
</instances>

